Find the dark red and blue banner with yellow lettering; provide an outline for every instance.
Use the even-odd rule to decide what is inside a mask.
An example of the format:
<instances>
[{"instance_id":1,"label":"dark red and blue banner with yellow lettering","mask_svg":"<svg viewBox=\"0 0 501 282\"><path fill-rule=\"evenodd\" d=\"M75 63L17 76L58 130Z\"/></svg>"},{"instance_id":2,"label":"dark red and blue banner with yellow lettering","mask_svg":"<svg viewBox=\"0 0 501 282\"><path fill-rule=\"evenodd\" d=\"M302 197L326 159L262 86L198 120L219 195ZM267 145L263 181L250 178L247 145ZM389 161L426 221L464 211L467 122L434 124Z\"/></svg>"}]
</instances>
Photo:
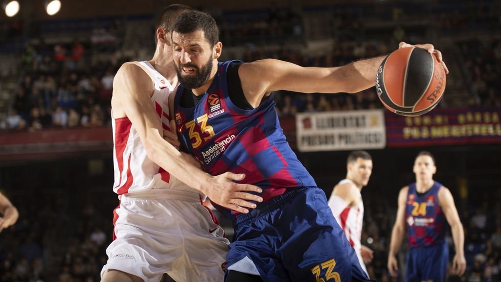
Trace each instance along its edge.
<instances>
[{"instance_id":1,"label":"dark red and blue banner with yellow lettering","mask_svg":"<svg viewBox=\"0 0 501 282\"><path fill-rule=\"evenodd\" d=\"M415 117L386 112L388 147L501 143L500 108L434 109Z\"/></svg>"}]
</instances>

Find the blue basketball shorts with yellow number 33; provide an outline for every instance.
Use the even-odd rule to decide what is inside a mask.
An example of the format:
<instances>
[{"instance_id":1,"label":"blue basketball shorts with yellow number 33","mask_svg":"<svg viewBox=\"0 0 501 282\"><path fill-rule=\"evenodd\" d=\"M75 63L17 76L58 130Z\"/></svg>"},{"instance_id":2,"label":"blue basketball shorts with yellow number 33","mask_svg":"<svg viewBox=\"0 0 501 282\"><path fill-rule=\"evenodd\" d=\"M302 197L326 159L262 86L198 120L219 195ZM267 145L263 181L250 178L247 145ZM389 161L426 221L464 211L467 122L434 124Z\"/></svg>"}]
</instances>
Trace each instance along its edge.
<instances>
[{"instance_id":1,"label":"blue basketball shorts with yellow number 33","mask_svg":"<svg viewBox=\"0 0 501 282\"><path fill-rule=\"evenodd\" d=\"M320 188L288 191L237 216L233 227L228 270L266 282L368 279Z\"/></svg>"}]
</instances>

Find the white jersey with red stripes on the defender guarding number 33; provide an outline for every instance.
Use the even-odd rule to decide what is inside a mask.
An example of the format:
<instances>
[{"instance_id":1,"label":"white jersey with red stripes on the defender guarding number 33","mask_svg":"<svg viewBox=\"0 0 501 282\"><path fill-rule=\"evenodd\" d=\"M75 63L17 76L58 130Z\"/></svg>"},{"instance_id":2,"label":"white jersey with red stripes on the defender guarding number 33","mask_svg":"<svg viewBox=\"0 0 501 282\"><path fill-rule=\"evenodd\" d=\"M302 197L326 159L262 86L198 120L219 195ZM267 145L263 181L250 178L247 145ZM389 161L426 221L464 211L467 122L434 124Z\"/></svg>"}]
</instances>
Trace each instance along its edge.
<instances>
[{"instance_id":1,"label":"white jersey with red stripes on the defender guarding number 33","mask_svg":"<svg viewBox=\"0 0 501 282\"><path fill-rule=\"evenodd\" d=\"M174 90L169 81L157 72L148 61L139 62L147 70L155 91L151 102L162 120L163 129L169 129L168 96ZM112 118L113 165L115 182L113 191L119 195L152 189L172 189L196 192L153 163L147 156L139 134L128 117Z\"/></svg>"}]
</instances>

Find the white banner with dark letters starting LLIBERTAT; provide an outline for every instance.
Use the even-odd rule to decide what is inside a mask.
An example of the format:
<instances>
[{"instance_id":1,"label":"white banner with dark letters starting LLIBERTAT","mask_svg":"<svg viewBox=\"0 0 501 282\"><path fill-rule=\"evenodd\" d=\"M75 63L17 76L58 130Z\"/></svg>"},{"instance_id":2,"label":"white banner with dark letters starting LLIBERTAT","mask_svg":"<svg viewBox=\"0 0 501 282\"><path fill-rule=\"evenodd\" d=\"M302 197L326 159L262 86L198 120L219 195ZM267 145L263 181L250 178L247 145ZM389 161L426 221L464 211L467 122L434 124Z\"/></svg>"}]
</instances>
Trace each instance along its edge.
<instances>
[{"instance_id":1,"label":"white banner with dark letters starting LLIBERTAT","mask_svg":"<svg viewBox=\"0 0 501 282\"><path fill-rule=\"evenodd\" d=\"M386 146L382 109L298 113L296 133L300 152Z\"/></svg>"}]
</instances>

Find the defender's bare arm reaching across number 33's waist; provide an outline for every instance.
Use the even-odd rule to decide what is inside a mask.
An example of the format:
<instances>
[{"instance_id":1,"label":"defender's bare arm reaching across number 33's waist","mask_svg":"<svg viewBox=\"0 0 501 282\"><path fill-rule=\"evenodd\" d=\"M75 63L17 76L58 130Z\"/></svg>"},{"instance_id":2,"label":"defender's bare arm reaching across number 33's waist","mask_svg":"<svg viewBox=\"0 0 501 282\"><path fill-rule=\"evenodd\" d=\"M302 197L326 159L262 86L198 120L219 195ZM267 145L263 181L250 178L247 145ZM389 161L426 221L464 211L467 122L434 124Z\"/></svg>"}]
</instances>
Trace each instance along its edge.
<instances>
[{"instance_id":1,"label":"defender's bare arm reaching across number 33's waist","mask_svg":"<svg viewBox=\"0 0 501 282\"><path fill-rule=\"evenodd\" d=\"M247 208L256 206L250 201L261 202L261 197L248 193L261 193L261 188L234 182L243 180L243 174L211 176L186 160L163 138L161 120L149 96L152 91L151 78L135 62L123 64L115 75L113 99L118 99L126 116L134 124L148 158L223 207L246 213Z\"/></svg>"}]
</instances>

